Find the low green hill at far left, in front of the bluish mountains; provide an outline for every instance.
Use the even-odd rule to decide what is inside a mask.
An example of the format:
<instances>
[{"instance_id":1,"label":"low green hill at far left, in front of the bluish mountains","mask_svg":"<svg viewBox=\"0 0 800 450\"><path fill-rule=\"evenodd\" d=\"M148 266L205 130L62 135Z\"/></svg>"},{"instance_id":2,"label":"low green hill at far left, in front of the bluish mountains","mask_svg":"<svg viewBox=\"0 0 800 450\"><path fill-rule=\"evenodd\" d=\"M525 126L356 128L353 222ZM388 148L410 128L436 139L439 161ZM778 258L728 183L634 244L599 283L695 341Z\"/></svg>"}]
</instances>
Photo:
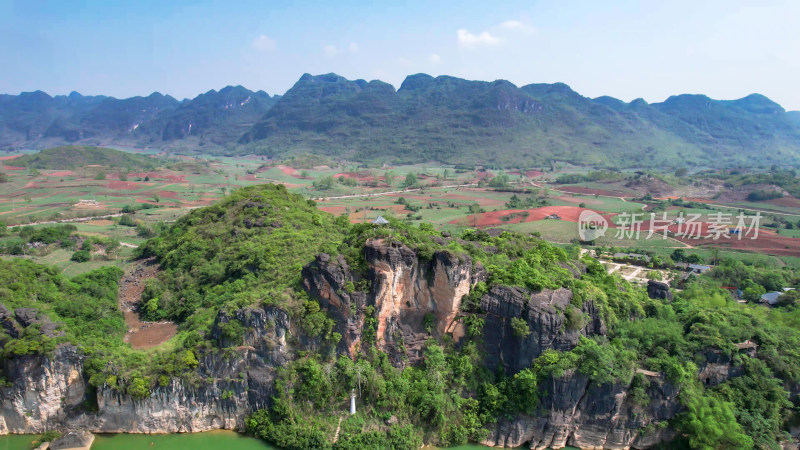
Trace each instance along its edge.
<instances>
[{"instance_id":1,"label":"low green hill at far left, in front of the bluish mountains","mask_svg":"<svg viewBox=\"0 0 800 450\"><path fill-rule=\"evenodd\" d=\"M20 156L14 165L28 169L73 170L90 165L127 170L150 170L158 167L157 159L102 147L69 145L49 148L39 153Z\"/></svg>"}]
</instances>

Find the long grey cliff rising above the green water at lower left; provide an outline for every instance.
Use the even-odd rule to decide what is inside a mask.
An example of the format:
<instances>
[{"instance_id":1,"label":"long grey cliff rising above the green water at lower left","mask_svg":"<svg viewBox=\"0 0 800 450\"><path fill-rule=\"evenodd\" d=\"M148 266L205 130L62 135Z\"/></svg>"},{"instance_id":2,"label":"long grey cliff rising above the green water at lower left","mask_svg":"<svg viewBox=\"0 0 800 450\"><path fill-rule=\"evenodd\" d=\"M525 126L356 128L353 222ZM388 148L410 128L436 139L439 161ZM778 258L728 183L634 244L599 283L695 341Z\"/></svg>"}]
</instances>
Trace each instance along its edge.
<instances>
[{"instance_id":1,"label":"long grey cliff rising above the green water at lower left","mask_svg":"<svg viewBox=\"0 0 800 450\"><path fill-rule=\"evenodd\" d=\"M220 313L216 324L239 320L244 345L202 355L191 385L173 379L150 396L133 399L107 386L93 392L83 371L83 354L62 345L52 358L25 356L5 361L13 381L0 396L0 434L41 433L59 428L101 433L175 433L240 428L244 417L267 408L274 394L275 369L291 359L289 319L277 308ZM224 339L215 327L212 333ZM83 411L84 403L97 412Z\"/></svg>"}]
</instances>

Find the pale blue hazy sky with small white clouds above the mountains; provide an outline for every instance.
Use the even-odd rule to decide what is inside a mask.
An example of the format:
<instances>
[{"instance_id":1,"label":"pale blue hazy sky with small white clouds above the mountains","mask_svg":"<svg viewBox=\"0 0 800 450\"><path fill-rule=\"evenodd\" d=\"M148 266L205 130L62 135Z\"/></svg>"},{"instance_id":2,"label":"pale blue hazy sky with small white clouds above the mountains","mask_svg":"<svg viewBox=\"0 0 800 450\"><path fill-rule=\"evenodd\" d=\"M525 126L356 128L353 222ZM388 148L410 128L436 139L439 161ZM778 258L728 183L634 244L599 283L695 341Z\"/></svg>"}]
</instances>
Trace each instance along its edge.
<instances>
[{"instance_id":1,"label":"pale blue hazy sky with small white clouds above the mountains","mask_svg":"<svg viewBox=\"0 0 800 450\"><path fill-rule=\"evenodd\" d=\"M0 0L0 92L179 99L425 72L800 109L800 1Z\"/></svg>"}]
</instances>

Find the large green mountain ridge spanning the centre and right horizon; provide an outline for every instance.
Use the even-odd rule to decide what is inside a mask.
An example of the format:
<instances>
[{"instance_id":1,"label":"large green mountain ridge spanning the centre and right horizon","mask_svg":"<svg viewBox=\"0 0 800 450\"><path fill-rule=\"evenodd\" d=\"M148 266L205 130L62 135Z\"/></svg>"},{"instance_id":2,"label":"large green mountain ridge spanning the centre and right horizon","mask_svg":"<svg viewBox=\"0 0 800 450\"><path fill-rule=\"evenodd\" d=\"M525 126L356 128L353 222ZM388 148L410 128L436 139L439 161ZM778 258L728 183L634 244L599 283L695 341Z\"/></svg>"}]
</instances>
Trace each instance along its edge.
<instances>
[{"instance_id":1,"label":"large green mountain ridge spanning the centre and right horizon","mask_svg":"<svg viewBox=\"0 0 800 450\"><path fill-rule=\"evenodd\" d=\"M563 83L517 87L424 74L397 92L377 81L304 75L240 142L271 156L501 166L800 163L800 128L760 95L651 105L592 100Z\"/></svg>"}]
</instances>

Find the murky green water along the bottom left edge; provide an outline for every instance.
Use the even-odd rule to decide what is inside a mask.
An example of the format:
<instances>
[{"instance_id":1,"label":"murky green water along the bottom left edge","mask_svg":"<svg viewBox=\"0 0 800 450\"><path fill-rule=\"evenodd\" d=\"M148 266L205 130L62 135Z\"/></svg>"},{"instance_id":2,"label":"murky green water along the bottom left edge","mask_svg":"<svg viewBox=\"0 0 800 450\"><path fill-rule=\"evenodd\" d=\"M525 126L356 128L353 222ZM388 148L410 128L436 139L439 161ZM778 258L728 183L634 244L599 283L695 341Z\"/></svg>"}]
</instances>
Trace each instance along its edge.
<instances>
[{"instance_id":1,"label":"murky green water along the bottom left edge","mask_svg":"<svg viewBox=\"0 0 800 450\"><path fill-rule=\"evenodd\" d=\"M0 436L0 450L30 450L34 435ZM567 447L571 448L571 447ZM92 450L277 450L264 442L233 431L180 434L98 434ZM481 445L461 445L448 450L486 450Z\"/></svg>"}]
</instances>

